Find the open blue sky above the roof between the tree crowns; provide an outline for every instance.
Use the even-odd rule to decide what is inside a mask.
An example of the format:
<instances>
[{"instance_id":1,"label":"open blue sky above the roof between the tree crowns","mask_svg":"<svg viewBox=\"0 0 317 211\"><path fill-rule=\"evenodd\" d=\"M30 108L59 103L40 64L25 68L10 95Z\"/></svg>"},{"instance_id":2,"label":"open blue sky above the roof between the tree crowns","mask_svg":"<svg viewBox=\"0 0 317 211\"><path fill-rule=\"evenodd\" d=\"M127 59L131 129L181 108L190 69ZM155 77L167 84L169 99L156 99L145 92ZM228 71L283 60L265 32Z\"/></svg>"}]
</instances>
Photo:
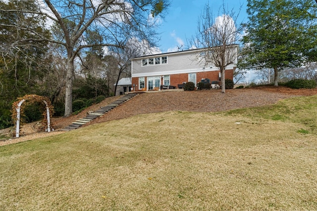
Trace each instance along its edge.
<instances>
[{"instance_id":1,"label":"open blue sky above the roof between the tree crowns","mask_svg":"<svg viewBox=\"0 0 317 211\"><path fill-rule=\"evenodd\" d=\"M218 16L219 8L223 3L229 11L233 9L236 12L242 5L239 22L247 20L247 0L171 0L168 14L158 30L161 37L159 49L162 53L177 51L177 46L181 45L183 45L181 49L188 48L187 40L195 36L198 17L207 3L215 16Z\"/></svg>"}]
</instances>

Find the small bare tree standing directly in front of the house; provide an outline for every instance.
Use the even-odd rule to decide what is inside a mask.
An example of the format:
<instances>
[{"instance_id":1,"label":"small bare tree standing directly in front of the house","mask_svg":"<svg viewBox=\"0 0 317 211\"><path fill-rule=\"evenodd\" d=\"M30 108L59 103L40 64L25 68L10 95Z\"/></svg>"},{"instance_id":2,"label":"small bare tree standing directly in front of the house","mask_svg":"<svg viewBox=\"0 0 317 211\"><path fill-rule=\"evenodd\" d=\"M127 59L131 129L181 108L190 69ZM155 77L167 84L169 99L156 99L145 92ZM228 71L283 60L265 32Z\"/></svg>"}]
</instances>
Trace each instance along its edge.
<instances>
[{"instance_id":1,"label":"small bare tree standing directly in front of the house","mask_svg":"<svg viewBox=\"0 0 317 211\"><path fill-rule=\"evenodd\" d=\"M219 10L220 11L220 10ZM224 4L222 14L214 17L209 4L205 6L198 21L196 37L190 41L194 48L204 49L200 54L206 65L215 65L221 73L221 92L225 92L225 70L229 65L237 62L236 44L242 28L236 26L238 14L233 10L228 12Z\"/></svg>"}]
</instances>

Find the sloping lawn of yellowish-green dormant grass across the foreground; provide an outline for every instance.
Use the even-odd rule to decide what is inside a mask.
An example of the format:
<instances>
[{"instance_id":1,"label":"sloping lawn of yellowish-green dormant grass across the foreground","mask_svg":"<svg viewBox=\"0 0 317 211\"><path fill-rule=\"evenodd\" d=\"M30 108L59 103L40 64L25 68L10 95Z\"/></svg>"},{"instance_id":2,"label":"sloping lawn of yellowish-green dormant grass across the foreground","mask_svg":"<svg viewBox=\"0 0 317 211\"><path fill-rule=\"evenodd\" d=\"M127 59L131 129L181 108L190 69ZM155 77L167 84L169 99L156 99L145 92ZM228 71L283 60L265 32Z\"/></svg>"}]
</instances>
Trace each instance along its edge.
<instances>
[{"instance_id":1,"label":"sloping lawn of yellowish-green dormant grass across the foreground","mask_svg":"<svg viewBox=\"0 0 317 211\"><path fill-rule=\"evenodd\" d=\"M316 99L138 115L0 147L0 210L317 210Z\"/></svg>"}]
</instances>

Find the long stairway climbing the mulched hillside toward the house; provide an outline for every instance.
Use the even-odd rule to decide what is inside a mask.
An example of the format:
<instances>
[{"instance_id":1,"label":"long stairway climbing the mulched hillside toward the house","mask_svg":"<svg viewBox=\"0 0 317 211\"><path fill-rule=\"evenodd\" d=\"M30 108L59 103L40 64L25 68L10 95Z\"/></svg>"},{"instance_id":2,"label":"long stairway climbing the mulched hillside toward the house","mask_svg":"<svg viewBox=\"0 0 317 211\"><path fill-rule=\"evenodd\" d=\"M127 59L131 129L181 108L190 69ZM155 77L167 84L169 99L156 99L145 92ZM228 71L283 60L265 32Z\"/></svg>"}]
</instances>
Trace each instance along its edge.
<instances>
[{"instance_id":1,"label":"long stairway climbing the mulched hillside toward the house","mask_svg":"<svg viewBox=\"0 0 317 211\"><path fill-rule=\"evenodd\" d=\"M119 99L113 101L112 103L101 107L98 111L89 113L86 117L79 119L79 120L76 120L75 122L72 122L71 125L60 129L60 131L70 131L73 129L77 129L78 127L81 127L81 126L89 123L90 121L105 115L107 112L111 111L112 109L114 109L115 107L117 107L119 105L122 105L123 103L125 103L126 101L135 97L136 95L138 95L138 93L128 93L128 94L120 97Z\"/></svg>"}]
</instances>

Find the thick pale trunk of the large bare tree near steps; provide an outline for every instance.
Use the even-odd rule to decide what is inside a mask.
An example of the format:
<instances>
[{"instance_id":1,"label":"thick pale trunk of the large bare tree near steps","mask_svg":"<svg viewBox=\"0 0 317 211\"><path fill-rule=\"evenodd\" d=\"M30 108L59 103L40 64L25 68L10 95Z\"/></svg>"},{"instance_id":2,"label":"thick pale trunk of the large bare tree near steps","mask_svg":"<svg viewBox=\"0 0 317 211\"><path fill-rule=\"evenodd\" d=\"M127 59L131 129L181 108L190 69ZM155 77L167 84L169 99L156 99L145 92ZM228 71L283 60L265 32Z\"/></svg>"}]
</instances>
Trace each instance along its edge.
<instances>
[{"instance_id":1,"label":"thick pale trunk of the large bare tree near steps","mask_svg":"<svg viewBox=\"0 0 317 211\"><path fill-rule=\"evenodd\" d=\"M73 72L74 72L74 60L72 56L67 58L67 71L66 71L66 89L65 89L65 113L64 117L69 117L73 113Z\"/></svg>"}]
</instances>

